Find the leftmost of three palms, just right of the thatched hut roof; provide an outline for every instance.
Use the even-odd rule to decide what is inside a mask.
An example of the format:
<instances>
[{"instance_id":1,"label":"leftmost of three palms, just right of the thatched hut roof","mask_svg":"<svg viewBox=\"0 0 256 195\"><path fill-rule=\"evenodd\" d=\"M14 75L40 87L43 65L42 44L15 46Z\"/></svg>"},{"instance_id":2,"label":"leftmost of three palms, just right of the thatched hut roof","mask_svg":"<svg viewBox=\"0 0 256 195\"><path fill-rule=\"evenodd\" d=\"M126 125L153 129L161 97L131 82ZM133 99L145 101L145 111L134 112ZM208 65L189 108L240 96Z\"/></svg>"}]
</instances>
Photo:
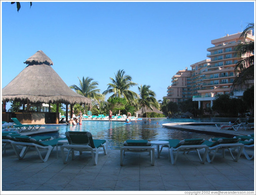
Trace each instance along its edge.
<instances>
[{"instance_id":1,"label":"leftmost of three palms, just right of the thatched hut roof","mask_svg":"<svg viewBox=\"0 0 256 195\"><path fill-rule=\"evenodd\" d=\"M92 100L100 101L104 100L104 95L100 94L100 89L97 89L98 82L93 81L93 78L90 77L83 77L83 80L81 81L79 79L79 87L77 85L71 85L70 88L74 89L78 94L83 95L84 97L90 98ZM84 104L85 107L85 104ZM88 106L88 110L90 111L92 108L92 105L90 104ZM85 113L85 110L84 110Z\"/></svg>"}]
</instances>

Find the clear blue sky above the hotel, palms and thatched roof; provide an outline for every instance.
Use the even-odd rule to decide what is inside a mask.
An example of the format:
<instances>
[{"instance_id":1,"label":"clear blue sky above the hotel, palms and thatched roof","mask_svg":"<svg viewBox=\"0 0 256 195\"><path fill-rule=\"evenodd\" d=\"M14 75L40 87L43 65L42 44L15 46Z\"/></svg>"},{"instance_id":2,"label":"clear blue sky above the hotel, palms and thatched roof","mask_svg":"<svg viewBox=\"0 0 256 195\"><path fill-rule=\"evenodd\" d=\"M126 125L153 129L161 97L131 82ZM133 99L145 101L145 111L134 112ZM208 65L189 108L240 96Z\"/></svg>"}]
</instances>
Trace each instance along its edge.
<instances>
[{"instance_id":1,"label":"clear blue sky above the hotel, palms and thatched roof","mask_svg":"<svg viewBox=\"0 0 256 195\"><path fill-rule=\"evenodd\" d=\"M124 69L157 100L179 70L207 59L212 39L241 32L255 18L254 1L35 1L31 8L21 2L19 12L1 1L1 9L2 88L42 50L68 86L91 77L103 92Z\"/></svg>"}]
</instances>

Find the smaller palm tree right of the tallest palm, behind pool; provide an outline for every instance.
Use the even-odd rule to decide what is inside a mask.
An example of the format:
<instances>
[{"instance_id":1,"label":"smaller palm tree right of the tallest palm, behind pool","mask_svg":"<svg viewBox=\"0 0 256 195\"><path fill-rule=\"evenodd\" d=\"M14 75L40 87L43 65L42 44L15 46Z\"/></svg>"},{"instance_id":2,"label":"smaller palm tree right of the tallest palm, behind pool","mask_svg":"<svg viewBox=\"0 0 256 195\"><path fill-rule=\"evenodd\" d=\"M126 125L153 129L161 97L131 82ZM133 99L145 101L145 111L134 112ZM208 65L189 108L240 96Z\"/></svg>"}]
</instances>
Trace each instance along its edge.
<instances>
[{"instance_id":1,"label":"smaller palm tree right of the tallest palm, behind pool","mask_svg":"<svg viewBox=\"0 0 256 195\"><path fill-rule=\"evenodd\" d=\"M138 103L140 105L140 108L143 107L143 114L145 113L145 107L150 108L153 110L152 106L159 108L159 103L155 99L155 92L150 90L150 85L141 85L141 87L138 87L140 99L138 100Z\"/></svg>"}]
</instances>

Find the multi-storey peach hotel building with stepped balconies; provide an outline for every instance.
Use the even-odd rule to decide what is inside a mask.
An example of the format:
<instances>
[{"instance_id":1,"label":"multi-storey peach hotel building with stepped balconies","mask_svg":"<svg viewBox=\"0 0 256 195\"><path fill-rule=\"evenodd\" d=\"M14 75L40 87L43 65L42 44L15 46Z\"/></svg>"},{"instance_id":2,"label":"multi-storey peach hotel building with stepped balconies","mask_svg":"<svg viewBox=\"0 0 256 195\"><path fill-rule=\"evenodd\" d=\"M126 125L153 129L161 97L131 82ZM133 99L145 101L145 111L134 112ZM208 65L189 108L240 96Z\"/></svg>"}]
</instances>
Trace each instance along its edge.
<instances>
[{"instance_id":1,"label":"multi-storey peach hotel building with stepped balconies","mask_svg":"<svg viewBox=\"0 0 256 195\"><path fill-rule=\"evenodd\" d=\"M190 65L191 71L186 68L186 72L190 72L191 77L183 78L184 81L178 79L182 71L177 72L177 75L172 77L172 85L167 88L166 98L177 103L187 100L188 95L184 97L183 94L177 93L180 89L176 90L176 88L180 87L189 91L191 97L193 95L193 101L199 102L198 108L206 109L212 107L216 95L231 95L231 86L236 77L234 70L238 60L235 47L241 43L240 35L241 32L227 34L225 37L212 40L214 47L207 49L210 52L207 57L210 59ZM247 34L246 41L254 41L254 36ZM243 91L234 92L236 97L242 95Z\"/></svg>"}]
</instances>

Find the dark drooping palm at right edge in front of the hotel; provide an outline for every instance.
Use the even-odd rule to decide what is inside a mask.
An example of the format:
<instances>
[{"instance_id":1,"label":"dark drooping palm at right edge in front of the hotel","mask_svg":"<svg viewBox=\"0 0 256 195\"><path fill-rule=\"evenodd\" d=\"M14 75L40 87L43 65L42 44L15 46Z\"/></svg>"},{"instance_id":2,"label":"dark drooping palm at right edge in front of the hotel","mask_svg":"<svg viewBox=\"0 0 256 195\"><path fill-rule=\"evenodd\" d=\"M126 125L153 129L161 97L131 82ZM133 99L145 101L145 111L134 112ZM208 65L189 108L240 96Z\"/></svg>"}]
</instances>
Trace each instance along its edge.
<instances>
[{"instance_id":1,"label":"dark drooping palm at right edge in front of the hotel","mask_svg":"<svg viewBox=\"0 0 256 195\"><path fill-rule=\"evenodd\" d=\"M240 35L242 40L236 46L240 60L236 63L235 78L231 90L246 89L254 79L254 41L245 41L247 36L254 36L254 23L249 23ZM244 40L244 41L243 41Z\"/></svg>"}]
</instances>

